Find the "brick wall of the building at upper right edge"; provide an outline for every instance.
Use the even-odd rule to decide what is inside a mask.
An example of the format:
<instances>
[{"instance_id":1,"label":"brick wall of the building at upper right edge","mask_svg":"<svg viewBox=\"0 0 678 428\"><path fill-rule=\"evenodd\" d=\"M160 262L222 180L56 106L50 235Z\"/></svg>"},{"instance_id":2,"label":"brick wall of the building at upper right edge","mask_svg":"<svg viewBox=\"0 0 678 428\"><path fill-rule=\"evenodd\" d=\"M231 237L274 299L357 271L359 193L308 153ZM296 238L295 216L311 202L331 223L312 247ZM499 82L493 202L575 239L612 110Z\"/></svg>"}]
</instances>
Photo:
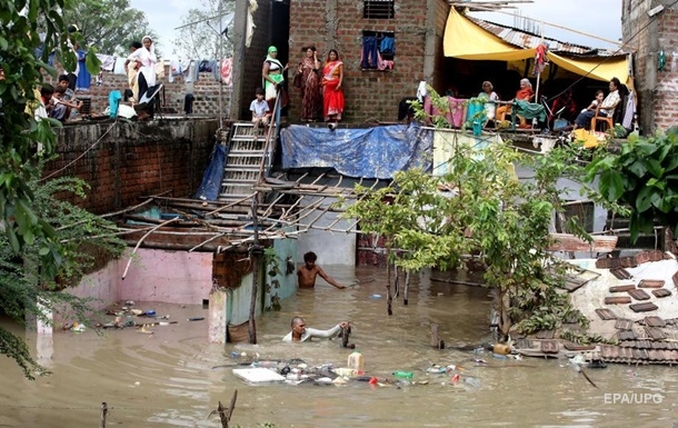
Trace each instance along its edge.
<instances>
[{"instance_id":1,"label":"brick wall of the building at upper right edge","mask_svg":"<svg viewBox=\"0 0 678 428\"><path fill-rule=\"evenodd\" d=\"M622 40L635 52L638 117L645 135L676 125L678 117L678 6L669 0L624 0ZM658 4L666 10L650 18ZM666 67L657 69L660 50L667 54Z\"/></svg>"}]
</instances>

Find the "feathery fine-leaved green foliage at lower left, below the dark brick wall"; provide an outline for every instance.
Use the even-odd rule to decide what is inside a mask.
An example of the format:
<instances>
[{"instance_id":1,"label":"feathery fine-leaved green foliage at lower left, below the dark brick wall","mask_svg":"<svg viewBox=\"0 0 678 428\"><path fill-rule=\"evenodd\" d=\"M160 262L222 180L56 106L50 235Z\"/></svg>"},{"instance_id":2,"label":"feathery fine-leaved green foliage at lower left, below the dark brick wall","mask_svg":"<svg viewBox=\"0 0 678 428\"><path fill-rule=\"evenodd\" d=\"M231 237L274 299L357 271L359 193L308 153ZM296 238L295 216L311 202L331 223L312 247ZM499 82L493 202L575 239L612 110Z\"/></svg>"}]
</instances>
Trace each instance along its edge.
<instances>
[{"instance_id":1,"label":"feathery fine-leaved green foliage at lower left, below the dark brick wall","mask_svg":"<svg viewBox=\"0 0 678 428\"><path fill-rule=\"evenodd\" d=\"M12 319L23 322L24 316L30 313L42 322L49 322L39 307L39 302L43 302L56 312L68 310L86 322L90 300L59 291L66 286L78 285L92 266L92 253L118 257L126 247L116 237L113 223L56 198L56 195L68 193L82 198L86 187L82 180L76 178L33 179L29 182L29 189L34 195L34 215L53 229L60 263L58 276L41 275L40 256L52 251L48 241L34 239L17 253L8 245L9 238L0 236L0 308ZM30 379L33 371L47 372L30 357L23 340L2 328L0 354L13 358Z\"/></svg>"}]
</instances>

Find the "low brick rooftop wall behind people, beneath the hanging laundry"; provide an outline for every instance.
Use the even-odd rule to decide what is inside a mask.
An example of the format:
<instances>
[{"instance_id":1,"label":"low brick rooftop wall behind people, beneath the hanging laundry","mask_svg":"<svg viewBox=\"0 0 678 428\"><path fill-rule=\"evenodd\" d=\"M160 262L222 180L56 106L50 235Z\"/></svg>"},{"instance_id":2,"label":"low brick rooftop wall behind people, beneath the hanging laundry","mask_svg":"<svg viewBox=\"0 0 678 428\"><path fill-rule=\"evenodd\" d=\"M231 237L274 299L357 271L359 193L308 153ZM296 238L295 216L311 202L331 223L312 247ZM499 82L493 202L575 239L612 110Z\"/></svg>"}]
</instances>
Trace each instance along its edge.
<instances>
[{"instance_id":1,"label":"low brick rooftop wall behind people, beneath the hanging laundry","mask_svg":"<svg viewBox=\"0 0 678 428\"><path fill-rule=\"evenodd\" d=\"M169 66L166 66L166 76L169 76ZM57 84L57 79L47 77L51 84ZM164 86L163 107L173 109L177 113L183 115L183 99L188 92L193 93L193 115L207 115L219 117L219 86L212 73L201 72L197 82L186 83L183 77L177 77L172 83L166 78L158 81ZM96 76L92 77L92 84L89 90L77 91L79 97L91 97L92 112L100 113L108 107L108 96L111 91L119 90L121 93L129 88L127 76L103 73L103 84L97 86ZM226 86L221 88L222 109L225 117L229 117L230 89Z\"/></svg>"}]
</instances>

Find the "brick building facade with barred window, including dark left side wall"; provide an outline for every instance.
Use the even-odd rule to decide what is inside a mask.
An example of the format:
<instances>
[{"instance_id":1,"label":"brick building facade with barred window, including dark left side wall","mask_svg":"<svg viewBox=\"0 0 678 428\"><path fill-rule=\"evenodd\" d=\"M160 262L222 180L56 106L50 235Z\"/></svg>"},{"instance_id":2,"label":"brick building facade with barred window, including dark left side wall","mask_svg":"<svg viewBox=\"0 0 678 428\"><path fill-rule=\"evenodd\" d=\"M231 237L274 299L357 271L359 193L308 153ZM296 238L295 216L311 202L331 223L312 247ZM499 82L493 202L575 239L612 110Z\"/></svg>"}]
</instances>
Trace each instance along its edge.
<instances>
[{"instance_id":1,"label":"brick building facade with barred window, including dark left side wall","mask_svg":"<svg viewBox=\"0 0 678 428\"><path fill-rule=\"evenodd\" d=\"M240 1L237 16L251 12L251 0ZM257 0L252 20L256 26L249 47L236 48L235 62L241 70L235 74L231 112L248 119L247 107L261 84L261 68L267 47L278 48L278 58L288 62L291 82L296 64L303 58L302 47L313 44L323 61L330 49L337 49L345 64L343 121L362 123L371 119L396 121L398 102L416 96L417 86L426 80L437 83L437 67L442 62L442 37L449 6L445 0ZM240 14L242 13L242 14ZM235 28L236 40L247 34L247 22ZM392 69L379 70L361 61L363 43L375 38L393 41L393 53L383 54ZM366 67L367 66L367 67ZM238 66L235 66L235 70ZM291 121L299 119L301 93L289 84Z\"/></svg>"}]
</instances>

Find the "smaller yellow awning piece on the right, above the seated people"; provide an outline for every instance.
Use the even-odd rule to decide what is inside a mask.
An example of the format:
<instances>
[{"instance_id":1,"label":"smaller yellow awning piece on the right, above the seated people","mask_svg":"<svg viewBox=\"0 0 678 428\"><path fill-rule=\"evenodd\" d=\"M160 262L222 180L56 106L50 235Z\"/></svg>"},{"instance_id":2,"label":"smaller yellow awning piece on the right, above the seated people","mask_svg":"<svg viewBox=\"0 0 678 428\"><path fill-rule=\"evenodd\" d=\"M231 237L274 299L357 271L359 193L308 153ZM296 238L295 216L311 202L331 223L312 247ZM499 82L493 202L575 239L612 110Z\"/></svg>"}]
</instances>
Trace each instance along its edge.
<instances>
[{"instance_id":1,"label":"smaller yellow awning piece on the right, above the seated people","mask_svg":"<svg viewBox=\"0 0 678 428\"><path fill-rule=\"evenodd\" d=\"M579 76L587 74L591 79L609 81L612 78L626 83L629 69L626 56L596 58L565 58L549 52L550 62Z\"/></svg>"}]
</instances>

